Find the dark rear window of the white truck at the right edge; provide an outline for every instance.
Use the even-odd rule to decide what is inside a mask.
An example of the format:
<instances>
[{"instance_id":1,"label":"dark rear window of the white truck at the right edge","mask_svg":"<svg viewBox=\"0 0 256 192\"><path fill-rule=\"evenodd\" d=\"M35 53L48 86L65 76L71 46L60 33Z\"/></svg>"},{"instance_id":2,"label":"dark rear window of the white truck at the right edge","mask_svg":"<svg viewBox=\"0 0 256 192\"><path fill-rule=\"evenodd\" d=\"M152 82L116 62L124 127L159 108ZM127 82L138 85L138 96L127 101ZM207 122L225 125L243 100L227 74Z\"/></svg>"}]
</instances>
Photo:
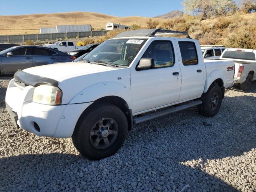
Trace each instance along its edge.
<instances>
[{"instance_id":1,"label":"dark rear window of the white truck at the right edge","mask_svg":"<svg viewBox=\"0 0 256 192\"><path fill-rule=\"evenodd\" d=\"M226 51L224 52L222 58L255 61L255 54L253 52L246 51Z\"/></svg>"}]
</instances>

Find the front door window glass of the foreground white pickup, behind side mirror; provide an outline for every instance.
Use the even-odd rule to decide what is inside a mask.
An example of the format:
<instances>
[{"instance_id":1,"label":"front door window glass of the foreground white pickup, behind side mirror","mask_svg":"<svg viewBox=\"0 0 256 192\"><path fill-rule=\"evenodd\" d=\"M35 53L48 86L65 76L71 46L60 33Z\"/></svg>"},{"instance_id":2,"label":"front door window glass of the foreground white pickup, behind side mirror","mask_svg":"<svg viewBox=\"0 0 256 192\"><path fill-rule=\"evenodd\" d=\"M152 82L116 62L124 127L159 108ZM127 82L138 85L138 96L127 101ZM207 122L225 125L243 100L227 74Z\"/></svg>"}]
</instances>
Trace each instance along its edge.
<instances>
[{"instance_id":1,"label":"front door window glass of the foreground white pickup, behind side mirror","mask_svg":"<svg viewBox=\"0 0 256 192\"><path fill-rule=\"evenodd\" d=\"M142 58L153 58L155 67L170 67L174 65L174 51L170 41L153 41Z\"/></svg>"}]
</instances>

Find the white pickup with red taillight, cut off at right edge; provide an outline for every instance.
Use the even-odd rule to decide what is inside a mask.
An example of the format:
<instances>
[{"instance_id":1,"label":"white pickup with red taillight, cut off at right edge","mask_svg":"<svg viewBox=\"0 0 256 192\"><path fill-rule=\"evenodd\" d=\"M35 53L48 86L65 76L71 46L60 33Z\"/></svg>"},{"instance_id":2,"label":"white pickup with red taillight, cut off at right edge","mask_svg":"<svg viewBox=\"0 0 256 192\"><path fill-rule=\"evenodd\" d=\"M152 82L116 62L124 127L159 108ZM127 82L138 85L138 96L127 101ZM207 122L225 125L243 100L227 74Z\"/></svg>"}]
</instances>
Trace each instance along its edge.
<instances>
[{"instance_id":1,"label":"white pickup with red taillight, cut off at right edge","mask_svg":"<svg viewBox=\"0 0 256 192\"><path fill-rule=\"evenodd\" d=\"M256 80L256 50L228 48L220 59L235 62L234 83L240 86L241 90L248 91L251 82Z\"/></svg>"}]
</instances>

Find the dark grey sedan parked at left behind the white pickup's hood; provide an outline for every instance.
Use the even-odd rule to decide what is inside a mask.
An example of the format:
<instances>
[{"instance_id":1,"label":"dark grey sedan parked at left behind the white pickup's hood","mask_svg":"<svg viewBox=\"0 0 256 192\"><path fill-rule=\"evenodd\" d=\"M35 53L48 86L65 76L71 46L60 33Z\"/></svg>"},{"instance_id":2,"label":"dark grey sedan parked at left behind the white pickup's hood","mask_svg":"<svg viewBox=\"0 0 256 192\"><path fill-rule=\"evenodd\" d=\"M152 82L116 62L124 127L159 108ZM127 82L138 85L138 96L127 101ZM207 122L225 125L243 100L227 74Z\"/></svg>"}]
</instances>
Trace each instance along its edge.
<instances>
[{"instance_id":1,"label":"dark grey sedan parked at left behind the white pickup's hood","mask_svg":"<svg viewBox=\"0 0 256 192\"><path fill-rule=\"evenodd\" d=\"M51 48L14 46L0 52L0 75L14 74L19 69L73 60L74 57Z\"/></svg>"}]
</instances>

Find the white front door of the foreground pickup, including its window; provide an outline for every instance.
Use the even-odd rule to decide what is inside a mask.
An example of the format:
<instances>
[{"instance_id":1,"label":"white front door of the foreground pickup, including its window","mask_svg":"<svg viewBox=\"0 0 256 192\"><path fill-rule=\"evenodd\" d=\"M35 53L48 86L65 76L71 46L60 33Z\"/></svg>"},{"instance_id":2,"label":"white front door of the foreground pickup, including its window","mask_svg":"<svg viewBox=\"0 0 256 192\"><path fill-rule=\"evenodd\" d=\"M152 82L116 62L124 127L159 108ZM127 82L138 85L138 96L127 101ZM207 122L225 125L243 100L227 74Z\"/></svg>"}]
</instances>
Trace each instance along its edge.
<instances>
[{"instance_id":1,"label":"white front door of the foreground pickup, including its window","mask_svg":"<svg viewBox=\"0 0 256 192\"><path fill-rule=\"evenodd\" d=\"M154 68L131 68L133 113L177 102L181 74L176 46L172 40L154 40L142 58L153 58Z\"/></svg>"}]
</instances>

